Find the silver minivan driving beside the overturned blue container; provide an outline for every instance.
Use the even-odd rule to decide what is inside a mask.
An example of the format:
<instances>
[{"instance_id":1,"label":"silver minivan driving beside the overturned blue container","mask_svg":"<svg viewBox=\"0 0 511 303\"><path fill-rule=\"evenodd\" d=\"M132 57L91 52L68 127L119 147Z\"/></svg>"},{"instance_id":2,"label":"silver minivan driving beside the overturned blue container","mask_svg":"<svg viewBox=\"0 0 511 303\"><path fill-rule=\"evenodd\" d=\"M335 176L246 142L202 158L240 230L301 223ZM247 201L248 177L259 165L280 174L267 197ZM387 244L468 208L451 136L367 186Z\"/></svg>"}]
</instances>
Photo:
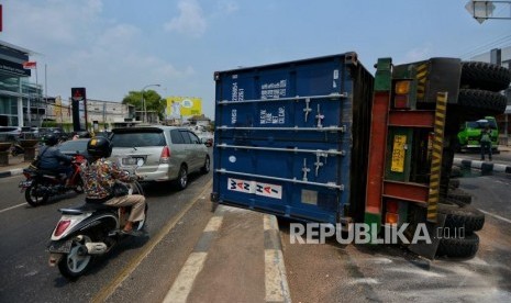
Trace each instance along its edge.
<instances>
[{"instance_id":1,"label":"silver minivan driving beside the overturned blue container","mask_svg":"<svg viewBox=\"0 0 511 303\"><path fill-rule=\"evenodd\" d=\"M137 173L144 181L175 180L188 184L188 173L210 170L208 148L191 131L175 126L141 126L112 130L112 156L121 167L143 164Z\"/></svg>"}]
</instances>

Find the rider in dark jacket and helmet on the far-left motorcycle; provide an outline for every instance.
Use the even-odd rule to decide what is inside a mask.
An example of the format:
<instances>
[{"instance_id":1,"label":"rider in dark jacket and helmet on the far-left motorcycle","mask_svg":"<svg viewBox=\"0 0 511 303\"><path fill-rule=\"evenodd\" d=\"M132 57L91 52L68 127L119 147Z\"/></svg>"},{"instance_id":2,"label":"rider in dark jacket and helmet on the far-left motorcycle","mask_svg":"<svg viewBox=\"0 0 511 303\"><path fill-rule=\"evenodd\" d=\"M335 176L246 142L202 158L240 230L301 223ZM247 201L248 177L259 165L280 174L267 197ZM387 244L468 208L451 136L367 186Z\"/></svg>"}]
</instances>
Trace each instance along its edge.
<instances>
[{"instance_id":1,"label":"rider in dark jacket and helmet on the far-left motorcycle","mask_svg":"<svg viewBox=\"0 0 511 303\"><path fill-rule=\"evenodd\" d=\"M58 138L54 134L49 134L44 138L45 145L41 147L38 152L40 169L56 171L58 173L66 175L66 187L69 186L69 177L73 173L70 166L73 157L64 155L55 146L58 143Z\"/></svg>"}]
</instances>

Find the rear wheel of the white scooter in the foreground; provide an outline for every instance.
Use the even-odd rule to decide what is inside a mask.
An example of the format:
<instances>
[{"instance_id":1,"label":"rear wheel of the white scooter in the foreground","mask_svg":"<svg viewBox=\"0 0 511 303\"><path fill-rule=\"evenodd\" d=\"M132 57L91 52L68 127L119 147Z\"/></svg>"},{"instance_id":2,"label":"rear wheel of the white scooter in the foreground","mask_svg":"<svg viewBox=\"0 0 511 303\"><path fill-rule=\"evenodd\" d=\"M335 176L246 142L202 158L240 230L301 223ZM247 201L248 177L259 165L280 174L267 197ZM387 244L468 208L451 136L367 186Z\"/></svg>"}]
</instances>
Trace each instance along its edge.
<instances>
[{"instance_id":1,"label":"rear wheel of the white scooter in the foreground","mask_svg":"<svg viewBox=\"0 0 511 303\"><path fill-rule=\"evenodd\" d=\"M80 240L73 240L70 251L64 255L58 262L62 276L74 281L89 269L92 256L87 254L86 244L91 242L92 239L87 235L82 235Z\"/></svg>"}]
</instances>

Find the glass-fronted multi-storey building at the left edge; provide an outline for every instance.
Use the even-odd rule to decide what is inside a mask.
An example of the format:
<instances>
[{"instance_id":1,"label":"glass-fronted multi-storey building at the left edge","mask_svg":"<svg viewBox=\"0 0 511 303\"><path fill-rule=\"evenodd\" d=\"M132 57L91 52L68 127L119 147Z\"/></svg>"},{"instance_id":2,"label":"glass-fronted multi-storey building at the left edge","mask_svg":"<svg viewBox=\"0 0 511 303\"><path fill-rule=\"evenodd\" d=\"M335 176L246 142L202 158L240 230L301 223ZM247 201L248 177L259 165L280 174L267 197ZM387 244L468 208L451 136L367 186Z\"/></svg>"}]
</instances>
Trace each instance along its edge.
<instances>
[{"instance_id":1,"label":"glass-fronted multi-storey building at the left edge","mask_svg":"<svg viewBox=\"0 0 511 303\"><path fill-rule=\"evenodd\" d=\"M23 66L32 50L0 41L0 125L41 126L47 104ZM31 67L35 67L33 63Z\"/></svg>"}]
</instances>

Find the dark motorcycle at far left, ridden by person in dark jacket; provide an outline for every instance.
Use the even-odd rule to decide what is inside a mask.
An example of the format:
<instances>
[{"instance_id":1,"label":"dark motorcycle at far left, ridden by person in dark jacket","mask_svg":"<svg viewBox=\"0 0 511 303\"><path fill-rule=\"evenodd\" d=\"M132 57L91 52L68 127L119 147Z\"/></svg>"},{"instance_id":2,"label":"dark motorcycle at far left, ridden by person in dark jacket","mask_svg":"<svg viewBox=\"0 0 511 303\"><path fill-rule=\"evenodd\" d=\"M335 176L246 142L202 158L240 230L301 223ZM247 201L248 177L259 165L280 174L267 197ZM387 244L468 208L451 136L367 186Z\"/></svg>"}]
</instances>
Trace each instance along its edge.
<instances>
[{"instance_id":1,"label":"dark motorcycle at far left, ridden by person in dark jacket","mask_svg":"<svg viewBox=\"0 0 511 303\"><path fill-rule=\"evenodd\" d=\"M66 176L51 170L29 167L23 169L26 180L21 181L18 187L20 192L25 192L25 200L32 206L38 206L48 201L49 197L64 194L68 191L76 193L84 192L84 180L81 180L81 164L87 159L77 154L71 161L73 173L69 177L69 184L66 187Z\"/></svg>"}]
</instances>

